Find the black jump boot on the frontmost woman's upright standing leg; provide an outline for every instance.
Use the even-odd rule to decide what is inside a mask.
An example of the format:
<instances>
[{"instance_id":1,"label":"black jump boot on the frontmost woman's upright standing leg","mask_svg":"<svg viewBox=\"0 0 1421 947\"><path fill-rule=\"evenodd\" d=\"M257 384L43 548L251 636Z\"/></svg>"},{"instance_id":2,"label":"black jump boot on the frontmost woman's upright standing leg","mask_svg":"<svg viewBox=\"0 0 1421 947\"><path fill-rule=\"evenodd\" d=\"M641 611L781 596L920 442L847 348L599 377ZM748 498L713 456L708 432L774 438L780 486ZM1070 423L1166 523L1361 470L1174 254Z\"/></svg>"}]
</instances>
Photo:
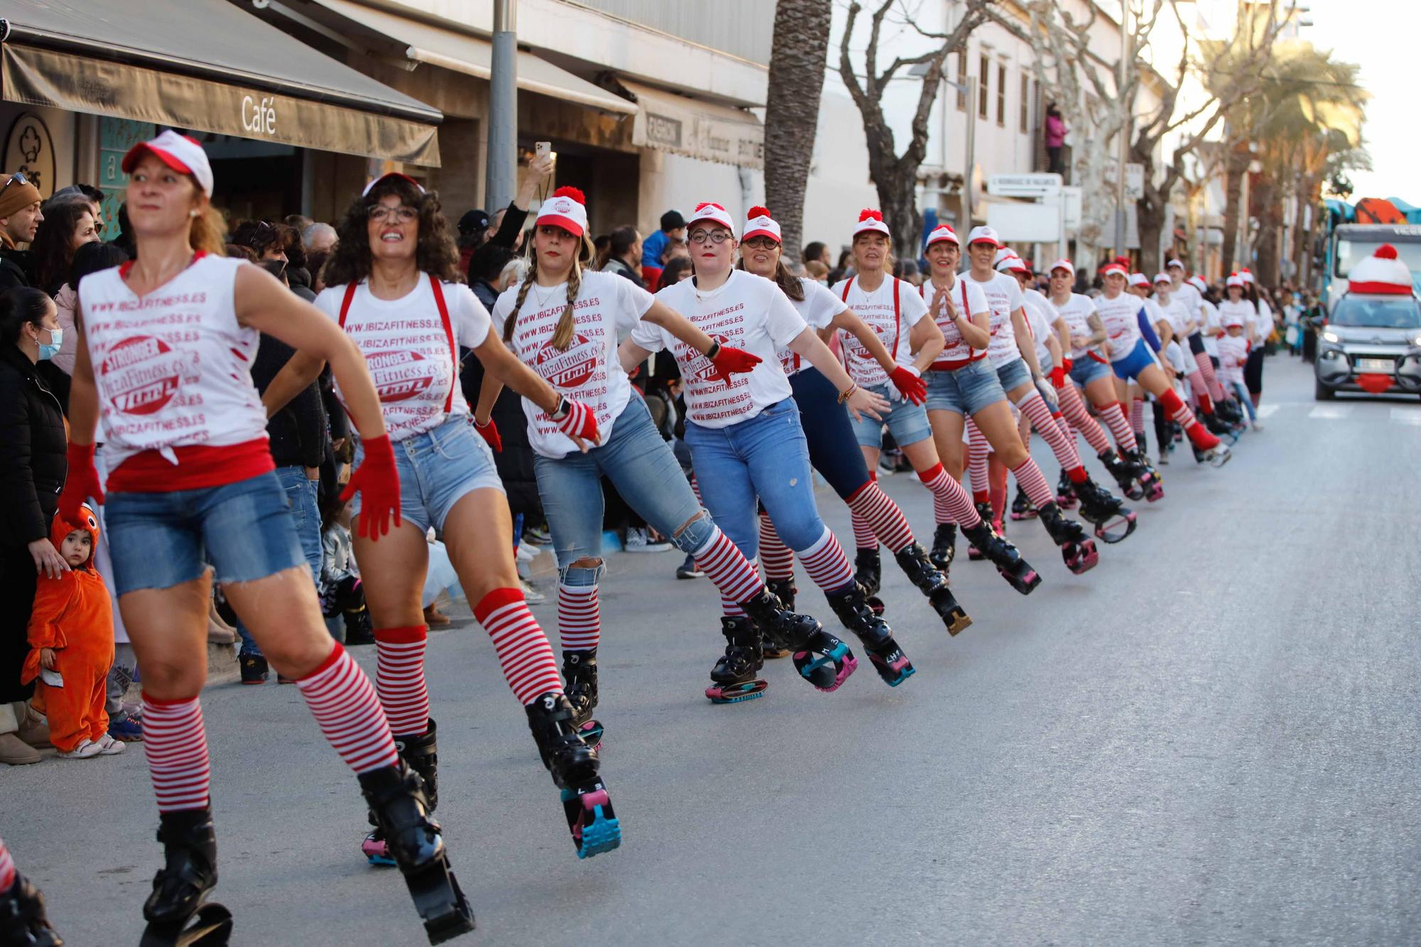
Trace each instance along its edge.
<instances>
[{"instance_id":1,"label":"black jump boot on the frontmost woman's upright standing leg","mask_svg":"<svg viewBox=\"0 0 1421 947\"><path fill-rule=\"evenodd\" d=\"M217 947L232 936L232 911L207 894L217 886L217 836L212 806L158 816L163 867L144 901L139 947Z\"/></svg>"}]
</instances>

